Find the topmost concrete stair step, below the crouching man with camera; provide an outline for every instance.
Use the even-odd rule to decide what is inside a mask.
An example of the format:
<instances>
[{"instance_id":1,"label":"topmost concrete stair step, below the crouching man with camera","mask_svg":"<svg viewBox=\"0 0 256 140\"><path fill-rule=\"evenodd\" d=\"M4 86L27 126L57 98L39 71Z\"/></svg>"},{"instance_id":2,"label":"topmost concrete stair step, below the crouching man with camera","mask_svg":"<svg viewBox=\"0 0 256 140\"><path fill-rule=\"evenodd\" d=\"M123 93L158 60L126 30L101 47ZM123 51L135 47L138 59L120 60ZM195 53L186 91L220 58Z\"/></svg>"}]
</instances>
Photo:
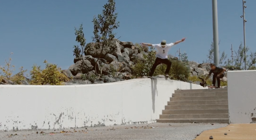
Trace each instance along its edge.
<instances>
[{"instance_id":1,"label":"topmost concrete stair step, below the crouching man with camera","mask_svg":"<svg viewBox=\"0 0 256 140\"><path fill-rule=\"evenodd\" d=\"M174 91L174 93L204 93L204 92L228 92L228 88L224 88L224 89L175 90Z\"/></svg>"}]
</instances>

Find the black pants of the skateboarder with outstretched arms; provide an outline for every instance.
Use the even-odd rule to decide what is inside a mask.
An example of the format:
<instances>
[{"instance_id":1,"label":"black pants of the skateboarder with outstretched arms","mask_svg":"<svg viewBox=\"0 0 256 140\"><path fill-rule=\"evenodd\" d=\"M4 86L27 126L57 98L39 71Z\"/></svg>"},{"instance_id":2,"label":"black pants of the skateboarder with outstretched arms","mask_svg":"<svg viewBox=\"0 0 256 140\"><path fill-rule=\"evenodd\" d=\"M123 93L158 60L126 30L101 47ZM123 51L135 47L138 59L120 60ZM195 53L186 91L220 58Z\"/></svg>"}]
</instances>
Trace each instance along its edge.
<instances>
[{"instance_id":1,"label":"black pants of the skateboarder with outstretched arms","mask_svg":"<svg viewBox=\"0 0 256 140\"><path fill-rule=\"evenodd\" d=\"M170 69L171 69L171 65L172 65L171 60L169 60L169 59L161 59L161 58L156 57L155 63L153 64L153 66L152 66L152 68L151 68L151 70L150 70L150 72L149 72L149 76L153 76L156 66L158 66L158 65L161 64L161 63L167 65L165 74L168 74L168 73L169 73L169 71L170 71Z\"/></svg>"}]
</instances>

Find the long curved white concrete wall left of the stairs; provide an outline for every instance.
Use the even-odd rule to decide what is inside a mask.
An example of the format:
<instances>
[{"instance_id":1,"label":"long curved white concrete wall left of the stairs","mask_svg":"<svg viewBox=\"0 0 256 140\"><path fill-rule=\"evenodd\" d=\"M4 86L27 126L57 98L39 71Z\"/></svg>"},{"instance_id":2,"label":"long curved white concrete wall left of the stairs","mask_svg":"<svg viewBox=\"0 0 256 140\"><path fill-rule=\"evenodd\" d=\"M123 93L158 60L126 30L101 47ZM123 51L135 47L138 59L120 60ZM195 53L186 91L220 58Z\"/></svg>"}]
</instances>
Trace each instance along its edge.
<instances>
[{"instance_id":1,"label":"long curved white concrete wall left of the stairs","mask_svg":"<svg viewBox=\"0 0 256 140\"><path fill-rule=\"evenodd\" d=\"M0 85L0 130L154 123L174 90L203 88L165 79L68 86Z\"/></svg>"}]
</instances>

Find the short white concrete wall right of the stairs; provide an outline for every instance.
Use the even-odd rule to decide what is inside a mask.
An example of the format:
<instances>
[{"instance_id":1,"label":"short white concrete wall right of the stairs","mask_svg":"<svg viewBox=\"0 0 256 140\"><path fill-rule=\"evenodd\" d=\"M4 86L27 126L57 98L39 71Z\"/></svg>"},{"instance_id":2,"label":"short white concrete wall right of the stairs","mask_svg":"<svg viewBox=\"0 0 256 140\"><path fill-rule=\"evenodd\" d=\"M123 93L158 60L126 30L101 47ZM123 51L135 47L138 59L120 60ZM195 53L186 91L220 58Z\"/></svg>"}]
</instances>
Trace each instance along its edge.
<instances>
[{"instance_id":1,"label":"short white concrete wall right of the stairs","mask_svg":"<svg viewBox=\"0 0 256 140\"><path fill-rule=\"evenodd\" d=\"M228 71L231 123L250 123L256 117L256 70Z\"/></svg>"}]
</instances>

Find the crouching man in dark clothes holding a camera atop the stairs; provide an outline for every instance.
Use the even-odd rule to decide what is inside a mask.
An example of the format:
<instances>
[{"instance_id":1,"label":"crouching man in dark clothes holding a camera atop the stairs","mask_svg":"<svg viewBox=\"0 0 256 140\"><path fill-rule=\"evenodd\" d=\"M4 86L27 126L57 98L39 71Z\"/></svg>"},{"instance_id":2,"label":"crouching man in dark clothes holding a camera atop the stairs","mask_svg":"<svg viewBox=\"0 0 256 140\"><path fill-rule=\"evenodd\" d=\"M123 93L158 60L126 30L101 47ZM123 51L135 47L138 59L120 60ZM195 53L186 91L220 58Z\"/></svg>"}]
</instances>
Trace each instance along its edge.
<instances>
[{"instance_id":1,"label":"crouching man in dark clothes holding a camera atop the stairs","mask_svg":"<svg viewBox=\"0 0 256 140\"><path fill-rule=\"evenodd\" d=\"M207 80L213 73L213 77L212 77L213 87L215 87L216 78L217 78L218 87L215 87L215 88L220 88L220 78L224 77L223 73L226 71L226 69L220 66L216 66L215 64L210 64L210 66L211 66L211 70L209 72L209 75L204 80Z\"/></svg>"}]
</instances>

